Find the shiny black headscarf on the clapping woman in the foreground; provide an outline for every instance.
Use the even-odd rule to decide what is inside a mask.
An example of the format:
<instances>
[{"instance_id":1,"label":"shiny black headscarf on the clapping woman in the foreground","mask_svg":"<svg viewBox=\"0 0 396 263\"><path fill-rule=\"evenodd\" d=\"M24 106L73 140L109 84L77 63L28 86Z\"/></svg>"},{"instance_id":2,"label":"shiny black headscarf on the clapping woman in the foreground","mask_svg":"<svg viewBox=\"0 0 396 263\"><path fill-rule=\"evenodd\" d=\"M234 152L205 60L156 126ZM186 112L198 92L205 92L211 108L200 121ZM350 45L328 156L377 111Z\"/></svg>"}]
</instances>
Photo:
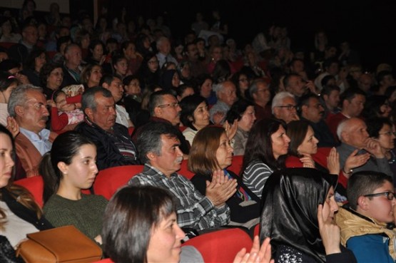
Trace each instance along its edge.
<instances>
[{"instance_id":1,"label":"shiny black headscarf on the clapping woman in the foreground","mask_svg":"<svg viewBox=\"0 0 396 263\"><path fill-rule=\"evenodd\" d=\"M325 202L337 176L312 168L275 171L263 189L260 240L271 238L273 253L280 244L298 249L318 262L325 262L320 238L318 205Z\"/></svg>"}]
</instances>

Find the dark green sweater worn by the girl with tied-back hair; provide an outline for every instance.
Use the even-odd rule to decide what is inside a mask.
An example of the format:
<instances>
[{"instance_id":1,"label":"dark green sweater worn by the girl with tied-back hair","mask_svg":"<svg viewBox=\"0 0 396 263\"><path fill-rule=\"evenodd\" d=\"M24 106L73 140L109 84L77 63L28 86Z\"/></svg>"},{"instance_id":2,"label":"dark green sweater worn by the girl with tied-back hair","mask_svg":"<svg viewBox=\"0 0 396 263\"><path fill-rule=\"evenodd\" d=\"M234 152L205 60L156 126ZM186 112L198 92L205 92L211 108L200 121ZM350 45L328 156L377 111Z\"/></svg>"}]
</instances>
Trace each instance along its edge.
<instances>
[{"instance_id":1,"label":"dark green sweater worn by the girl with tied-back hair","mask_svg":"<svg viewBox=\"0 0 396 263\"><path fill-rule=\"evenodd\" d=\"M44 205L44 216L54 227L73 225L94 239L101 234L107 203L101 195L81 195L81 200L52 195Z\"/></svg>"}]
</instances>

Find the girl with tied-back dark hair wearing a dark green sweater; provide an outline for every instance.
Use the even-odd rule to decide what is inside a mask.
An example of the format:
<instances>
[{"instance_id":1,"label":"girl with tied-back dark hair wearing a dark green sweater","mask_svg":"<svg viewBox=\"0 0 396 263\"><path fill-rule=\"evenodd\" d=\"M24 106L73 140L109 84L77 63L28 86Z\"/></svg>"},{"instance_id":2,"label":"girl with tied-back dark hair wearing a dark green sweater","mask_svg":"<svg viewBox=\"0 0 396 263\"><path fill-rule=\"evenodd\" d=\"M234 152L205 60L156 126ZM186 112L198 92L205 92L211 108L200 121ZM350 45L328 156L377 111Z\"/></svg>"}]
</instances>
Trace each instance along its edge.
<instances>
[{"instance_id":1,"label":"girl with tied-back dark hair wearing a dark green sweater","mask_svg":"<svg viewBox=\"0 0 396 263\"><path fill-rule=\"evenodd\" d=\"M65 147L67 145L67 147ZM62 133L40 165L44 179L44 215L54 227L73 225L96 242L101 242L103 212L107 200L85 195L95 180L96 146L76 131Z\"/></svg>"}]
</instances>

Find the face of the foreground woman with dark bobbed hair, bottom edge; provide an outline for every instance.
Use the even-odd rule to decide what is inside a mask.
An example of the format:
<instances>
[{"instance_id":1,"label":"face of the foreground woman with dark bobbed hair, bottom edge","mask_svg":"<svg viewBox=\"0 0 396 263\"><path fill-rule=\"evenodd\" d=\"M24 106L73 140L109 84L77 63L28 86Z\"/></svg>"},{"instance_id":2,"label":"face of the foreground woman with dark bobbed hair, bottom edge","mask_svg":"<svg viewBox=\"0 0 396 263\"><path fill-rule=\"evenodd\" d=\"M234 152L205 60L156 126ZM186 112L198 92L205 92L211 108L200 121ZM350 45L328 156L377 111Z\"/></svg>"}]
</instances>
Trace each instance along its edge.
<instances>
[{"instance_id":1,"label":"face of the foreground woman with dark bobbed hair, bottom edge","mask_svg":"<svg viewBox=\"0 0 396 263\"><path fill-rule=\"evenodd\" d=\"M186 236L178 226L176 213L163 218L151 229L151 238L147 249L147 262L178 263L181 253L181 239Z\"/></svg>"}]
</instances>

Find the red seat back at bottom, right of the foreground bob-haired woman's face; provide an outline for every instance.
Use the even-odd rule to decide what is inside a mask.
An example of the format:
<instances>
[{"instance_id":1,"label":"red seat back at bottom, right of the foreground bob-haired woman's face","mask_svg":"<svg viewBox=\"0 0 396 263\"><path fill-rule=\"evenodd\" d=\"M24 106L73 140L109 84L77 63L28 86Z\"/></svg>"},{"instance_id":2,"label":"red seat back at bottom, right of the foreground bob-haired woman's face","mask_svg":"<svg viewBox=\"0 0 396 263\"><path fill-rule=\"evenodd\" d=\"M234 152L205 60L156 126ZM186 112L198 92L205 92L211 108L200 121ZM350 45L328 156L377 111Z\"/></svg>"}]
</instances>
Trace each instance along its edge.
<instances>
[{"instance_id":1,"label":"red seat back at bottom, right of the foreground bob-haired woman's face","mask_svg":"<svg viewBox=\"0 0 396 263\"><path fill-rule=\"evenodd\" d=\"M188 245L198 249L204 262L233 262L243 247L250 251L253 241L245 231L231 228L200 234L184 242L182 247Z\"/></svg>"}]
</instances>

